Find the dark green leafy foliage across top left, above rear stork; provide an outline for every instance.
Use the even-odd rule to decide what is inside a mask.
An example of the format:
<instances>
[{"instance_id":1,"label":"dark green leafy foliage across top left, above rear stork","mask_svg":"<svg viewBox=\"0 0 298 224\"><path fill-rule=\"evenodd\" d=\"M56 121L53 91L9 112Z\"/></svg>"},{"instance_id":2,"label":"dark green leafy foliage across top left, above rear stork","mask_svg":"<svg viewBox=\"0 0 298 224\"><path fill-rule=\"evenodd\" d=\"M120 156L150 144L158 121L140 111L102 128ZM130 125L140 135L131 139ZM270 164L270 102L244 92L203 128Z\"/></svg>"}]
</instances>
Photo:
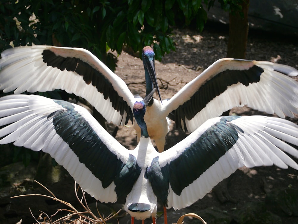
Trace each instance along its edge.
<instances>
[{"instance_id":1,"label":"dark green leafy foliage across top left, above rear stork","mask_svg":"<svg viewBox=\"0 0 298 224\"><path fill-rule=\"evenodd\" d=\"M207 4L207 0L204 0ZM201 0L4 0L0 3L0 50L45 44L84 47L112 69L108 49L122 51L126 44L136 52L152 45L156 59L175 50L170 27L196 21L202 30L207 19Z\"/></svg>"}]
</instances>

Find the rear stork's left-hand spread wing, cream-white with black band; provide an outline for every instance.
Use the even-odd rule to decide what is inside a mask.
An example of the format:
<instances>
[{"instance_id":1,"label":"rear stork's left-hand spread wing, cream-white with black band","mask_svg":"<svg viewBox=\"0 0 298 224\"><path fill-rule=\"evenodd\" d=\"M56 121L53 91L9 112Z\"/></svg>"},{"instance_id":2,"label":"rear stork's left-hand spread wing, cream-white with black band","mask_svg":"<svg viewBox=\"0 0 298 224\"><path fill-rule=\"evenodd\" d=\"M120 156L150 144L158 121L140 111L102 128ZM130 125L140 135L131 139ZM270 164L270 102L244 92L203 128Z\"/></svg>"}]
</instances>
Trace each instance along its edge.
<instances>
[{"instance_id":1,"label":"rear stork's left-hand spread wing, cream-white with black band","mask_svg":"<svg viewBox=\"0 0 298 224\"><path fill-rule=\"evenodd\" d=\"M55 89L89 101L108 122L132 121L134 96L125 82L83 48L34 45L1 53L0 90L14 93Z\"/></svg>"}]
</instances>

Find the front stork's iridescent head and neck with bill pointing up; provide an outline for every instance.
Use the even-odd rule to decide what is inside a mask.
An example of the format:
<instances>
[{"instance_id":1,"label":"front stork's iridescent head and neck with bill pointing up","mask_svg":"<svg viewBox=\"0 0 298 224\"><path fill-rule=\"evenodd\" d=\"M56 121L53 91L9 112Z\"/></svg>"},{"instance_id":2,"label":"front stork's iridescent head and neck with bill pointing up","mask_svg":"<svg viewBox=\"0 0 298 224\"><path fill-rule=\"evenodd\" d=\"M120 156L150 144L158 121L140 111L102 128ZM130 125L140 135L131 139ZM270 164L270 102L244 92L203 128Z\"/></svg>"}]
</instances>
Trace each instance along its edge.
<instances>
[{"instance_id":1,"label":"front stork's iridescent head and neck with bill pointing up","mask_svg":"<svg viewBox=\"0 0 298 224\"><path fill-rule=\"evenodd\" d=\"M137 124L141 128L141 136L144 136L145 138L148 138L149 135L147 131L147 125L144 121L144 116L146 113L146 107L148 106L150 100L153 99L153 94L155 90L156 88L154 88L142 101L134 103L134 118L136 119Z\"/></svg>"}]
</instances>

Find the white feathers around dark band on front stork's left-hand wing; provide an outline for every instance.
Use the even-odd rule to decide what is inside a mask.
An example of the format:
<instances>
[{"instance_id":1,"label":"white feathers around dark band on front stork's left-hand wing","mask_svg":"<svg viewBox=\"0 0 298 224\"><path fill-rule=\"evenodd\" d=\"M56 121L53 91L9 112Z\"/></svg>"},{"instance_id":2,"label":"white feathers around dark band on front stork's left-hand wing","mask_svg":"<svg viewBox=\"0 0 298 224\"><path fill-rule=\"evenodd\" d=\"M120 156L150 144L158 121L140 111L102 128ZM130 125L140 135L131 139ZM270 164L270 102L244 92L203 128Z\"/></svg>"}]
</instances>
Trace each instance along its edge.
<instances>
[{"instance_id":1,"label":"white feathers around dark band on front stork's left-hand wing","mask_svg":"<svg viewBox=\"0 0 298 224\"><path fill-rule=\"evenodd\" d=\"M3 109L6 105L15 108ZM108 134L85 108L73 105L109 150L126 162L129 156L128 150ZM43 96L22 94L2 97L0 117L5 117L0 119L0 126L7 126L0 129L0 137L5 136L0 140L0 144L14 142L17 146L49 153L91 196L102 202L115 202L117 195L114 191L114 182L108 188L103 188L101 181L94 177L91 171L79 161L69 145L56 133L52 118L48 118L48 115L58 110L66 109Z\"/></svg>"}]
</instances>

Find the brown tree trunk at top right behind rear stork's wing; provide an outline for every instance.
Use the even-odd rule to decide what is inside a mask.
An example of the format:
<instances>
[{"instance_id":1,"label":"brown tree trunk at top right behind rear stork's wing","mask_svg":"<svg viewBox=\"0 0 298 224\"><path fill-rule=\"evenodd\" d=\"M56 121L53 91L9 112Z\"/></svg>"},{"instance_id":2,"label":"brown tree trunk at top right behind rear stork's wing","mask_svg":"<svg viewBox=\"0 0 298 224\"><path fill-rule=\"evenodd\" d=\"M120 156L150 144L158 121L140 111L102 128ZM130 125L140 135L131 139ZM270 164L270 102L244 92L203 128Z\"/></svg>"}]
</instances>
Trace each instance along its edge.
<instances>
[{"instance_id":1,"label":"brown tree trunk at top right behind rear stork's wing","mask_svg":"<svg viewBox=\"0 0 298 224\"><path fill-rule=\"evenodd\" d=\"M239 12L229 13L229 41L228 41L228 58L245 59L246 44L248 36L248 8L249 0L241 4L243 17Z\"/></svg>"}]
</instances>

